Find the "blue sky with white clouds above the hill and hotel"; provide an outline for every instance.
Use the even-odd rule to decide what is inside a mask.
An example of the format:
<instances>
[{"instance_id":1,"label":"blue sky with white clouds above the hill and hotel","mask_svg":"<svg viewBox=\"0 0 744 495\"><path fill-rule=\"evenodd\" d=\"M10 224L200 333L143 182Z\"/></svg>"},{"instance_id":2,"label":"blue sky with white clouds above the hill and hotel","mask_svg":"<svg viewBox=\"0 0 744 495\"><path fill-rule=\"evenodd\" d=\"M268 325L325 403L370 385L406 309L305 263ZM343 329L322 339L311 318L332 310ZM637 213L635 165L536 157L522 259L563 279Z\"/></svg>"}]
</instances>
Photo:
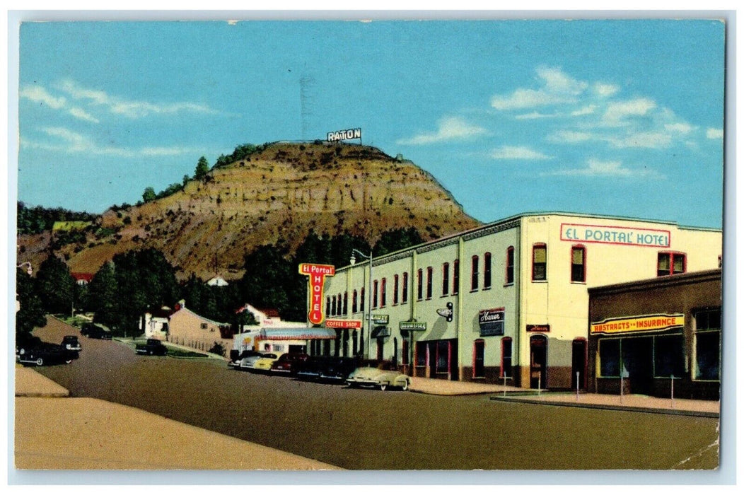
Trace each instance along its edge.
<instances>
[{"instance_id":1,"label":"blue sky with white clouds above the hill and hotel","mask_svg":"<svg viewBox=\"0 0 744 495\"><path fill-rule=\"evenodd\" d=\"M689 19L29 22L18 198L100 213L202 155L362 127L484 222L719 228L724 34Z\"/></svg>"}]
</instances>

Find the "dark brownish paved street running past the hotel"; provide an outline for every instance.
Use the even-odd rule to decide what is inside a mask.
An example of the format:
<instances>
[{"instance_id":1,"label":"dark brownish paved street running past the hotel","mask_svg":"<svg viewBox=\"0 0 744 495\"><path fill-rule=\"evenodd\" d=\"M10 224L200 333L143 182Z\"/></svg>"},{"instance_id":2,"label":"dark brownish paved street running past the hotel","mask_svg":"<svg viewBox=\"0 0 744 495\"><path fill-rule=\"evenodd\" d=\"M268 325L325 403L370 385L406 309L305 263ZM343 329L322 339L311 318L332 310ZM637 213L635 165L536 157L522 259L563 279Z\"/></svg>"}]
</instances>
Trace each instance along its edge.
<instances>
[{"instance_id":1,"label":"dark brownish paved street running past the hotel","mask_svg":"<svg viewBox=\"0 0 744 495\"><path fill-rule=\"evenodd\" d=\"M49 323L36 331L48 342L75 333ZM718 462L714 418L349 389L233 371L219 360L137 356L121 342L81 342L79 360L36 368L73 397L134 406L347 469L710 469Z\"/></svg>"}]
</instances>

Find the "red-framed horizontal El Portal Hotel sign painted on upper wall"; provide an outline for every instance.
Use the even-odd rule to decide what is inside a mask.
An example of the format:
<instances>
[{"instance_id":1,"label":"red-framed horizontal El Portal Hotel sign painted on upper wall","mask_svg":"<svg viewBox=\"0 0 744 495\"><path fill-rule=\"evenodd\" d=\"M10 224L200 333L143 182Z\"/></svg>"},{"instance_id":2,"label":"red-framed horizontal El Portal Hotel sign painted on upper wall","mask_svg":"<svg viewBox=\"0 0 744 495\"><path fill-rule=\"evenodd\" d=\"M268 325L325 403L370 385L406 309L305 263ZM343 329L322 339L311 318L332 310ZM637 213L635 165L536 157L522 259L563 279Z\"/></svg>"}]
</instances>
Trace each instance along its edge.
<instances>
[{"instance_id":1,"label":"red-framed horizontal El Portal Hotel sign painted on upper wall","mask_svg":"<svg viewBox=\"0 0 744 495\"><path fill-rule=\"evenodd\" d=\"M561 240L578 243L622 244L623 246L647 246L668 248L671 233L659 229L635 229L630 227L608 227L562 223Z\"/></svg>"}]
</instances>

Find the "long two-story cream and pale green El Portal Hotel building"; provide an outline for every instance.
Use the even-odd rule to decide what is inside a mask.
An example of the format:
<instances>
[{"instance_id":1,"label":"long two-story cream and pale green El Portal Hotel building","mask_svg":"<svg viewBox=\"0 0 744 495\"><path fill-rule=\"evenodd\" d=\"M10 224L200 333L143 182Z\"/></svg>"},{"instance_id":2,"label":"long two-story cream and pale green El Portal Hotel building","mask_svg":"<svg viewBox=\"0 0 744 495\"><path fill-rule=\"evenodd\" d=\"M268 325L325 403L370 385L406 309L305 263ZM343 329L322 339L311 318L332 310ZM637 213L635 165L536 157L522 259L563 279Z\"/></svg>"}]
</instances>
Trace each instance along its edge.
<instances>
[{"instance_id":1,"label":"long two-story cream and pale green El Portal Hotel building","mask_svg":"<svg viewBox=\"0 0 744 495\"><path fill-rule=\"evenodd\" d=\"M336 269L324 285L325 316L361 320L362 328L337 329L336 339L312 342L310 354L391 360L419 377L532 389L574 389L578 380L581 389L611 391L615 383L597 382L597 371L601 377L603 370L618 368L619 376L618 363L602 361L619 359L623 333L597 333L590 343L592 288L718 269L721 252L719 229L600 215L519 214L373 257L371 264L357 258L356 264ZM718 274L713 282L718 296L703 304L713 316L721 305ZM644 309L646 298L634 290L632 307L618 301L608 303L607 310L595 305L597 321L695 310L671 304L675 296L668 288ZM692 336L690 325L690 317L682 317L664 331L677 336L686 329ZM655 351L674 354L675 369L683 372L686 366L688 382L694 374L690 360L680 365L680 359L695 356L694 346L701 342L718 346L706 347L703 354L719 353L720 338L716 344L708 334L674 337L656 348L658 339L642 334L649 338L625 339L626 351L635 348L651 367L654 359L667 362L655 358ZM613 342L603 344L600 335ZM653 377L653 371L644 373ZM716 389L718 376L713 371L705 375Z\"/></svg>"}]
</instances>

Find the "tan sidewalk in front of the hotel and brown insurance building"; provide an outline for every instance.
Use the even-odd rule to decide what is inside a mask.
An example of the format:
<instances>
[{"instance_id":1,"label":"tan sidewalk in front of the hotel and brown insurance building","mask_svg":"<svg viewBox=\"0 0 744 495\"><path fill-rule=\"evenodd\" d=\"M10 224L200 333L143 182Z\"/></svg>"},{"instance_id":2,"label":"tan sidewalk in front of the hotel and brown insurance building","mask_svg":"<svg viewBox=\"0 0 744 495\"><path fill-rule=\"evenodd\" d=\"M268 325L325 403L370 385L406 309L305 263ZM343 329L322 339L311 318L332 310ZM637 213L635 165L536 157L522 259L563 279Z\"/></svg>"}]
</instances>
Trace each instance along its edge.
<instances>
[{"instance_id":1,"label":"tan sidewalk in front of the hotel and brown insurance building","mask_svg":"<svg viewBox=\"0 0 744 495\"><path fill-rule=\"evenodd\" d=\"M650 397L647 395L605 395L575 392L546 392L519 389L495 383L458 382L433 378L411 377L411 392L433 395L488 394L491 400L543 404L546 406L586 407L614 409L658 414L701 416L718 418L721 403L718 400L690 400Z\"/></svg>"}]
</instances>

